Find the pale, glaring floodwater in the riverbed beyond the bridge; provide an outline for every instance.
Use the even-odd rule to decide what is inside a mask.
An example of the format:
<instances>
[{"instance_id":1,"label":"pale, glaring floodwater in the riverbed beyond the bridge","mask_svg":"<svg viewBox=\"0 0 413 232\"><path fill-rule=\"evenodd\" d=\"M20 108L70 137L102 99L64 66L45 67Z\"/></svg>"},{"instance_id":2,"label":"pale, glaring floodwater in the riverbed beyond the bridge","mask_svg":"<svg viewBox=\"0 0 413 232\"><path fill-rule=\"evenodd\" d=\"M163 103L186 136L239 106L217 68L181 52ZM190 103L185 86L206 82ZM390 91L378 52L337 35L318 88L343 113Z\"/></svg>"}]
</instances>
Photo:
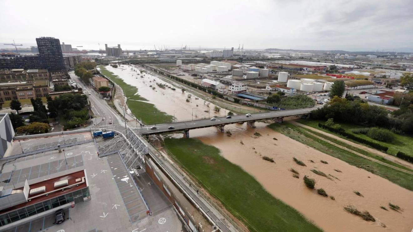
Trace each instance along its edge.
<instances>
[{"instance_id":1,"label":"pale, glaring floodwater in the riverbed beyond the bridge","mask_svg":"<svg viewBox=\"0 0 413 232\"><path fill-rule=\"evenodd\" d=\"M122 65L118 68L105 66L105 68L119 76L119 78L128 85L133 85L138 88L138 94L147 99L149 103L154 104L157 109L164 111L166 114L175 115L177 121L191 120L192 118L212 118L228 113L225 109L221 109L219 112L214 111L214 104L204 101L193 93L188 93L187 91L182 92L182 86L176 87L147 71L140 73L140 70L144 69L138 69L130 65ZM167 85L171 88L166 87L162 89L157 83ZM172 88L176 90L172 90ZM188 97L188 94L190 94L191 97ZM190 102L187 102L186 99L189 99Z\"/></svg>"}]
</instances>

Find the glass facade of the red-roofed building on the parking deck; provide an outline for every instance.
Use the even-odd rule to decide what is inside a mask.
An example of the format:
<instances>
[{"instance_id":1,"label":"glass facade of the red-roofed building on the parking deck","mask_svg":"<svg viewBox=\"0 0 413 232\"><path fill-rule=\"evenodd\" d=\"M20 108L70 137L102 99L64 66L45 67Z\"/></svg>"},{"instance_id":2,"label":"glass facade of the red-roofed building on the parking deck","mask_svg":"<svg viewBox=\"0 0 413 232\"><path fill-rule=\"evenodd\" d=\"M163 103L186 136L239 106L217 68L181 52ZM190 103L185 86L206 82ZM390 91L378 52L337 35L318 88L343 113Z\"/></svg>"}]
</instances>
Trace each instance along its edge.
<instances>
[{"instance_id":1,"label":"glass facade of the red-roofed building on the parking deck","mask_svg":"<svg viewBox=\"0 0 413 232\"><path fill-rule=\"evenodd\" d=\"M46 200L31 206L27 206L15 211L11 211L9 213L2 214L0 215L0 223L1 225L7 225L9 223L21 220L23 218L35 215L36 213L41 213L52 208L56 208L64 204L70 203L74 201L74 198L82 197L83 199L83 197L88 196L90 196L89 188L86 187L75 192L70 192L68 194L52 198L50 200Z\"/></svg>"}]
</instances>

